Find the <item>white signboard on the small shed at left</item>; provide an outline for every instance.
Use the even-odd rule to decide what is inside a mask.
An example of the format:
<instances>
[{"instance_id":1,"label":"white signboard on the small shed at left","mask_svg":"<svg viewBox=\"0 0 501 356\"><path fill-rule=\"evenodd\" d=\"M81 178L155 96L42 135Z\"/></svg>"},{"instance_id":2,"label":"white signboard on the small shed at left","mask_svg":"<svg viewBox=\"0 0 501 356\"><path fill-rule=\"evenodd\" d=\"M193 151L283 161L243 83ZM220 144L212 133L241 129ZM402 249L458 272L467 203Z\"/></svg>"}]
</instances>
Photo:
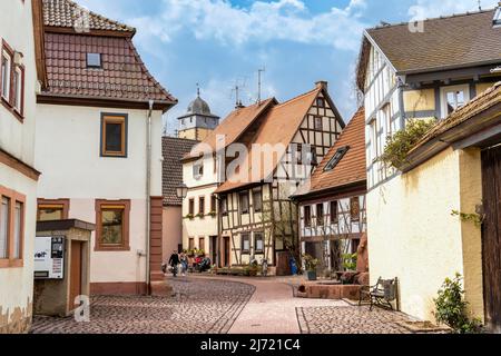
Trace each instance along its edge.
<instances>
[{"instance_id":1,"label":"white signboard on the small shed at left","mask_svg":"<svg viewBox=\"0 0 501 356\"><path fill-rule=\"evenodd\" d=\"M62 279L65 277L63 236L35 239L35 279Z\"/></svg>"}]
</instances>

